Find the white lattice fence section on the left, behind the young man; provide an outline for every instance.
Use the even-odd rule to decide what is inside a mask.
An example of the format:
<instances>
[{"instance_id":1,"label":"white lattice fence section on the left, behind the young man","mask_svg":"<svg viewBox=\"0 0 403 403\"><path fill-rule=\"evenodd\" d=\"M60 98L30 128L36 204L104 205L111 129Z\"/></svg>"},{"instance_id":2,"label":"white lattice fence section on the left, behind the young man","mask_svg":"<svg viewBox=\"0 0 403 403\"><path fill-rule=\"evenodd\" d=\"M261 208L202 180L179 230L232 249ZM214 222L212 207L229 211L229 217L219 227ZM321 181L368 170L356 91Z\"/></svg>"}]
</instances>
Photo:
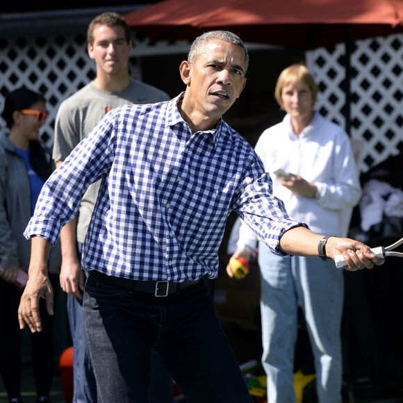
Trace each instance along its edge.
<instances>
[{"instance_id":1,"label":"white lattice fence section on the left, behind the young man","mask_svg":"<svg viewBox=\"0 0 403 403\"><path fill-rule=\"evenodd\" d=\"M95 76L94 61L87 53L85 33L0 41L0 51L0 110L3 110L6 94L15 88L26 85L42 92L47 99L49 117L41 137L51 147L60 102ZM131 62L135 63L135 59ZM134 64L130 69L133 76L141 77ZM6 130L1 117L0 126L1 131Z\"/></svg>"}]
</instances>

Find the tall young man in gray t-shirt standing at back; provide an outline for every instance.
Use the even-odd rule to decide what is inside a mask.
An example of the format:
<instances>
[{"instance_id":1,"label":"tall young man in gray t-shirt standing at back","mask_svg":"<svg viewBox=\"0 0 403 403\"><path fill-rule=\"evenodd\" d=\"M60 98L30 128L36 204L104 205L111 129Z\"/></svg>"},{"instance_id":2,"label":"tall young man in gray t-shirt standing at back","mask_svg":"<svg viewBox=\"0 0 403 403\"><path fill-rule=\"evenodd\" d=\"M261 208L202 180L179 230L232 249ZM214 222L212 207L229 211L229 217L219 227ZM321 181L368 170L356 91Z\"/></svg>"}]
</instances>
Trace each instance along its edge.
<instances>
[{"instance_id":1,"label":"tall young man in gray t-shirt standing at back","mask_svg":"<svg viewBox=\"0 0 403 403\"><path fill-rule=\"evenodd\" d=\"M61 165L72 149L113 108L124 104L149 104L170 99L151 85L132 79L129 57L132 42L126 21L117 13L102 13L88 26L88 54L95 62L97 76L85 87L65 99L58 109L53 158ZM67 313L74 345L74 403L97 402L83 319L82 290L85 277L81 270L81 247L90 224L100 181L93 183L81 199L79 215L60 234L63 263L60 285L68 294ZM150 388L150 402L172 402L173 384L165 367L154 357L156 385ZM133 364L135 365L135 364Z\"/></svg>"}]
</instances>

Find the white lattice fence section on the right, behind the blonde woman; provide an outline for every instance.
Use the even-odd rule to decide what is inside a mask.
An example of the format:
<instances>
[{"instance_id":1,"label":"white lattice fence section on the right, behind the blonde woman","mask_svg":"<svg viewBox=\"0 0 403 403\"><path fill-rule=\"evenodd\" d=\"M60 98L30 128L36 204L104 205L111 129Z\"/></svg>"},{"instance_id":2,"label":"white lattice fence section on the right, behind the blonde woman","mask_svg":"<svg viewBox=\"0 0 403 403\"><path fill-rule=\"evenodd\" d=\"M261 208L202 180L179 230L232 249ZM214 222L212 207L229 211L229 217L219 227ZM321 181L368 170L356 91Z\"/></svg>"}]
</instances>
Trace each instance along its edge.
<instances>
[{"instance_id":1,"label":"white lattice fence section on the right, behind the blonde woman","mask_svg":"<svg viewBox=\"0 0 403 403\"><path fill-rule=\"evenodd\" d=\"M318 108L345 126L345 45L306 52L320 85ZM360 151L361 172L403 152L403 34L357 41L351 57L350 135Z\"/></svg>"}]
</instances>

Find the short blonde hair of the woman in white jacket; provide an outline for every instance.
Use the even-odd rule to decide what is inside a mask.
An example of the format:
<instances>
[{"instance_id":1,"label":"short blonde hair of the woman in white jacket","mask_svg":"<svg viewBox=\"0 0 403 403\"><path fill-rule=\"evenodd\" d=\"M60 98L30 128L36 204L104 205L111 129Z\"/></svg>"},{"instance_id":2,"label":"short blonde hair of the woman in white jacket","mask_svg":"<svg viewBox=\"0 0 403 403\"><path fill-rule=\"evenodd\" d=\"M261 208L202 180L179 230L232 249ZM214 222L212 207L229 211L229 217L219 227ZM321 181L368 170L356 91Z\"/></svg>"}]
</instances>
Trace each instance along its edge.
<instances>
[{"instance_id":1,"label":"short blonde hair of the woman in white jacket","mask_svg":"<svg viewBox=\"0 0 403 403\"><path fill-rule=\"evenodd\" d=\"M283 69L279 78L277 79L276 89L274 90L274 97L277 104L283 109L283 101L281 101L281 92L286 85L294 84L297 81L308 85L309 90L312 92L313 104L315 104L316 97L318 96L318 85L313 80L313 76L306 65L302 63L296 65L290 65L286 69Z\"/></svg>"}]
</instances>

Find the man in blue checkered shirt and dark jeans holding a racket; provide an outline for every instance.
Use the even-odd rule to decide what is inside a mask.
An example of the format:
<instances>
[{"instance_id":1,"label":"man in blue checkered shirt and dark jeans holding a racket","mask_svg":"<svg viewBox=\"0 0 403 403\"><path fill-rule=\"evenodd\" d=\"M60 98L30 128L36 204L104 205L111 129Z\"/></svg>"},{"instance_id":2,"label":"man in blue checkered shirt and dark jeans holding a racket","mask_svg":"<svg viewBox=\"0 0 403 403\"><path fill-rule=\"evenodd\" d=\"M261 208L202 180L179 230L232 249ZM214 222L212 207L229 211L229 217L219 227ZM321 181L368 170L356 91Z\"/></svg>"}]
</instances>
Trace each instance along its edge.
<instances>
[{"instance_id":1,"label":"man in blue checkered shirt and dark jeans holding a racket","mask_svg":"<svg viewBox=\"0 0 403 403\"><path fill-rule=\"evenodd\" d=\"M102 181L82 265L103 402L147 402L151 349L188 402L252 402L200 281L217 277L231 211L274 253L318 256L323 235L288 217L254 149L222 120L245 86L248 62L233 33L196 38L179 69L183 93L110 111L42 189L25 231L33 252L19 306L20 327L31 331L41 329L40 297L52 312L49 249L90 183ZM327 257L342 252L349 270L382 263L361 242L327 240Z\"/></svg>"}]
</instances>

